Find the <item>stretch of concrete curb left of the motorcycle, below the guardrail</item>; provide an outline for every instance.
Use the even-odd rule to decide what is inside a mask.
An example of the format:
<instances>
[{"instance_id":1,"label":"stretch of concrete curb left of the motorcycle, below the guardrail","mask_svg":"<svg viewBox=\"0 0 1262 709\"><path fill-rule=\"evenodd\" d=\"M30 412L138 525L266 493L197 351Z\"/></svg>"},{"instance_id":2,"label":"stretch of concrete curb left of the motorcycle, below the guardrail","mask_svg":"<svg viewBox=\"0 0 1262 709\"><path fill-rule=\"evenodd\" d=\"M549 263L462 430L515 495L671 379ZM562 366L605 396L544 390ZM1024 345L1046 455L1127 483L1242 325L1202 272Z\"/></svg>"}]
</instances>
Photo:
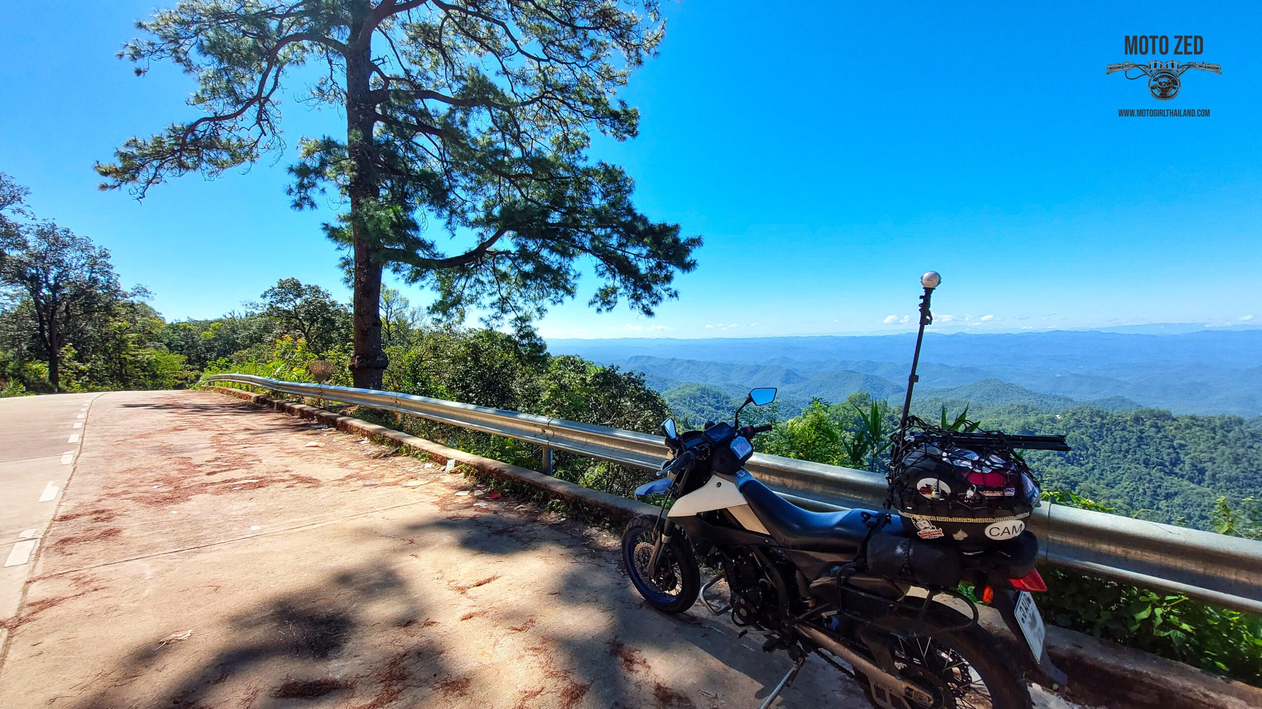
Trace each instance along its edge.
<instances>
[{"instance_id":1,"label":"stretch of concrete curb left of the motorcycle, below the guardrail","mask_svg":"<svg viewBox=\"0 0 1262 709\"><path fill-rule=\"evenodd\" d=\"M560 500L579 513L601 517L608 520L613 525L625 525L636 515L655 515L658 512L656 507L645 505L644 502L636 502L635 500L627 500L607 492L588 489L572 482L557 479L551 476L545 476L528 468L511 466L491 458L483 458L481 455L448 448L432 440L425 440L424 438L418 438L403 431L370 424L369 421L352 416L343 416L332 411L317 409L314 406L295 404L283 399L273 399L271 396L264 394L252 394L240 389L227 389L222 386L208 389L213 389L221 394L244 399L251 404L266 406L292 416L316 420L338 430L362 435L387 445L405 448L410 452L424 453L435 459L440 459L442 462L453 459L458 464L464 466L466 468L472 468L477 473L488 478L526 486L549 497Z\"/></svg>"}]
</instances>

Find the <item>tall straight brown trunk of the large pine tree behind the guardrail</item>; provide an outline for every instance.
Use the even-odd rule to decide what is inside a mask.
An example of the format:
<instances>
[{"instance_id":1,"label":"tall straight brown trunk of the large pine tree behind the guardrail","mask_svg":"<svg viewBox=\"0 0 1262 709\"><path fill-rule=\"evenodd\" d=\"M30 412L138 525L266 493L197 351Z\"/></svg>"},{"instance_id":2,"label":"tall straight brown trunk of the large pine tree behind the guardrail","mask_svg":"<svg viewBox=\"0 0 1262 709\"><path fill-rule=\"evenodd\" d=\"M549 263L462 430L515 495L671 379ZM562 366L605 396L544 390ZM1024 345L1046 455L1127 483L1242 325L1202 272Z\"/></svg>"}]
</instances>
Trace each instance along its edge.
<instances>
[{"instance_id":1,"label":"tall straight brown trunk of the large pine tree behind the guardrail","mask_svg":"<svg viewBox=\"0 0 1262 709\"><path fill-rule=\"evenodd\" d=\"M387 363L381 351L381 264L374 257L375 242L367 233L363 220L363 209L380 194L376 168L372 163L376 112L370 96L371 32L372 29L365 26L362 21L353 23L350 35L352 50L346 57L346 144L352 163L347 192L351 198L351 233L355 240L352 246L355 354L351 357L351 376L355 386L361 389L381 389L381 375ZM361 33L369 33L370 37L363 42L356 42Z\"/></svg>"}]
</instances>

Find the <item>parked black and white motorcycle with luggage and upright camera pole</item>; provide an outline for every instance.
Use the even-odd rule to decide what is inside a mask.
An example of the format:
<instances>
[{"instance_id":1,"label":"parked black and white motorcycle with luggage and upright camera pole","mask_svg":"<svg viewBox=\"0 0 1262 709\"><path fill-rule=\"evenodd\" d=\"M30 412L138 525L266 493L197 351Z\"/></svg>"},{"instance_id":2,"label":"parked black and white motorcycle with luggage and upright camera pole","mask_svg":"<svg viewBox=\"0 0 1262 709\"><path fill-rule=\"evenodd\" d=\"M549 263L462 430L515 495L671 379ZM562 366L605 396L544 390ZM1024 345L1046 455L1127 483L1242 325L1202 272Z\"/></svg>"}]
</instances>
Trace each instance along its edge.
<instances>
[{"instance_id":1,"label":"parked black and white motorcycle with luggage and upright camera pole","mask_svg":"<svg viewBox=\"0 0 1262 709\"><path fill-rule=\"evenodd\" d=\"M925 279L921 337L938 285ZM786 651L793 666L764 709L810 656L858 681L878 709L1029 709L1022 669L1063 685L1031 595L1046 589L1035 570L1037 540L1023 522L1039 488L1016 450L1068 450L1064 438L946 430L905 406L886 508L814 512L745 468L750 442L771 426L742 426L741 411L775 395L750 391L731 424L679 431L673 419L663 423L671 457L658 479L636 489L661 496L661 508L634 519L622 535L641 597L665 613L699 597L712 613L729 613L742 636L765 633L765 652ZM721 569L704 585L698 558ZM719 582L726 599L711 598ZM1023 667L978 624L962 583L1025 640Z\"/></svg>"}]
</instances>

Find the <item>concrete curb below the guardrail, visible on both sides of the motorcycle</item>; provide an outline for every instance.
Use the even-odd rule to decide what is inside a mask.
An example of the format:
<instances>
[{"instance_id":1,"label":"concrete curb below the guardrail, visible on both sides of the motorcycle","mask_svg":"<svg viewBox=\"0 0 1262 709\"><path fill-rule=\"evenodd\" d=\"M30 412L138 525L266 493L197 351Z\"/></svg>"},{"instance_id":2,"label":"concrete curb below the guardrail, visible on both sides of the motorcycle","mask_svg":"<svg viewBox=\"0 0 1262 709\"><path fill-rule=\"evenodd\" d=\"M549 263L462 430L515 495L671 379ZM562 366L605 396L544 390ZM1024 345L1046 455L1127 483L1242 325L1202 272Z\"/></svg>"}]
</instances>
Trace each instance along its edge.
<instances>
[{"instance_id":1,"label":"concrete curb below the guardrail, visible on both sides of the motorcycle","mask_svg":"<svg viewBox=\"0 0 1262 709\"><path fill-rule=\"evenodd\" d=\"M658 508L606 492L588 489L535 471L464 453L401 431L333 414L314 406L273 399L240 389L206 387L303 419L312 419L346 433L363 435L434 458L454 459L491 478L522 484L564 501L572 507L621 525L636 515L656 513ZM998 613L979 607L981 624L1015 653L1027 653L1025 641L1015 637ZM1157 657L1141 650L1090 637L1075 631L1047 626L1047 652L1069 680L1074 701L1100 706L1133 709L1256 709L1262 706L1262 689L1198 670L1182 662Z\"/></svg>"}]
</instances>

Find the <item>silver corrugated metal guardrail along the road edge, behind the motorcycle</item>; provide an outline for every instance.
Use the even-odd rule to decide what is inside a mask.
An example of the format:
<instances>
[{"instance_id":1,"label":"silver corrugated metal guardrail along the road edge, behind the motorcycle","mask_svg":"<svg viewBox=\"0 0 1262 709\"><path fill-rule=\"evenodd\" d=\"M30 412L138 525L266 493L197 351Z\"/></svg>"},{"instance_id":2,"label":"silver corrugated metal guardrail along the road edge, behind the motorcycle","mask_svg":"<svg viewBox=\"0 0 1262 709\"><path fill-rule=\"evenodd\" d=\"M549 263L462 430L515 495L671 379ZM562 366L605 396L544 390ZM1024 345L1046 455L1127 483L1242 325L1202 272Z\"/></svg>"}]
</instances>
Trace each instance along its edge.
<instances>
[{"instance_id":1,"label":"silver corrugated metal guardrail along the road edge, behind the motorcycle","mask_svg":"<svg viewBox=\"0 0 1262 709\"><path fill-rule=\"evenodd\" d=\"M665 443L655 435L504 409L252 375L213 375L204 381L360 404L524 440L544 450L544 472L550 472L553 449L647 471L656 471L666 457ZM804 507L875 508L885 501L885 478L864 471L761 453L746 468ZM1029 527L1039 536L1044 560L1055 566L1262 613L1262 541L1050 503L1035 510Z\"/></svg>"}]
</instances>

